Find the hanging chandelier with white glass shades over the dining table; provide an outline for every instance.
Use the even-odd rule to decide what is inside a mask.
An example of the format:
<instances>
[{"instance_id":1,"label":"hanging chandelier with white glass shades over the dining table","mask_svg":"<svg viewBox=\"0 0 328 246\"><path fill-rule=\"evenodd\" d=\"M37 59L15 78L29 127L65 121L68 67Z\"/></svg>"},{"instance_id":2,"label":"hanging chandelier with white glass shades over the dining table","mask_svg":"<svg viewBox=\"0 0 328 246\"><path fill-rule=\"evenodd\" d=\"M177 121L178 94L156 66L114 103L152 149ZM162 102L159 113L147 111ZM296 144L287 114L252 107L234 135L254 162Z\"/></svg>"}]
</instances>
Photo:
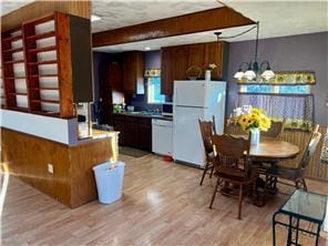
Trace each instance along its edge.
<instances>
[{"instance_id":1,"label":"hanging chandelier with white glass shades over the dining table","mask_svg":"<svg viewBox=\"0 0 328 246\"><path fill-rule=\"evenodd\" d=\"M248 81L254 81L255 79L258 78L258 75L260 75L265 80L269 80L275 76L275 73L270 69L270 64L268 61L264 61L258 65L258 62L257 62L258 32L259 32L259 22L256 22L256 41L255 41L254 62L252 61L249 61L248 63L242 62L239 64L239 69L234 75L234 78L237 80L242 80L243 78L246 78ZM243 71L244 64L247 64L247 70L245 70L245 72ZM266 65L265 70L263 70L264 65Z\"/></svg>"}]
</instances>

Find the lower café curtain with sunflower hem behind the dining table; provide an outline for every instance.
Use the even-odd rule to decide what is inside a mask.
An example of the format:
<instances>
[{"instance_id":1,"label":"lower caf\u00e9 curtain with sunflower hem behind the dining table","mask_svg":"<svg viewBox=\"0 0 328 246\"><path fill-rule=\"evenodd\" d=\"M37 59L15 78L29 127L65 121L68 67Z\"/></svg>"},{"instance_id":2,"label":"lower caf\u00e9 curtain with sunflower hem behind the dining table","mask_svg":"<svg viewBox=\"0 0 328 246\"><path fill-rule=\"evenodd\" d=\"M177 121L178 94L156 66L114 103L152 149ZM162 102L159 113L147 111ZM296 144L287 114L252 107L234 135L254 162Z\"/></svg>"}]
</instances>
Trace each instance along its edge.
<instances>
[{"instance_id":1,"label":"lower caf\u00e9 curtain with sunflower hem behind the dining table","mask_svg":"<svg viewBox=\"0 0 328 246\"><path fill-rule=\"evenodd\" d=\"M310 131L314 122L312 95L239 93L237 106L252 105L267 112L274 121L285 120L286 129Z\"/></svg>"}]
</instances>

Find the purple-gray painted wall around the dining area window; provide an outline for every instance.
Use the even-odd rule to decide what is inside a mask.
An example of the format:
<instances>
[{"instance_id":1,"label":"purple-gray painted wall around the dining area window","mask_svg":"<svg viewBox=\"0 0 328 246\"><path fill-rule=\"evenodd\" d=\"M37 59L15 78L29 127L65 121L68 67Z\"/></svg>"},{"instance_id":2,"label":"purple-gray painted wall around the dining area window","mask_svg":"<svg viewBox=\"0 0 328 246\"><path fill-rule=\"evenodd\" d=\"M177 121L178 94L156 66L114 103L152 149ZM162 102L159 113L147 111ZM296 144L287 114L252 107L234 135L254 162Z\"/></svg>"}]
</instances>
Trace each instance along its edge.
<instances>
[{"instance_id":1,"label":"purple-gray painted wall around the dining area window","mask_svg":"<svg viewBox=\"0 0 328 246\"><path fill-rule=\"evenodd\" d=\"M238 85L234 73L239 63L254 59L255 42L229 44L228 95L226 115L235 107ZM328 125L328 32L259 40L259 61L269 61L274 71L315 71L315 121Z\"/></svg>"}]
</instances>

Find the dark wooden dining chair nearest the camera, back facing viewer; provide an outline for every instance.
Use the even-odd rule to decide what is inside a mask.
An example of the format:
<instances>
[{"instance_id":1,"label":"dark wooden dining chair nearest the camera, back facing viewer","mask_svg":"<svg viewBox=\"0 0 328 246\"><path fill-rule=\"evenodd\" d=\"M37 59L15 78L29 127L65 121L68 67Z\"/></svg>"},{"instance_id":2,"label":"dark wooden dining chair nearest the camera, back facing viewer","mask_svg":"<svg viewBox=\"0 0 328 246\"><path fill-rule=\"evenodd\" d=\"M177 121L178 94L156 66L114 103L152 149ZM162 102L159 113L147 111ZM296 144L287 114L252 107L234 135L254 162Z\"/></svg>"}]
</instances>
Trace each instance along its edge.
<instances>
[{"instance_id":1,"label":"dark wooden dining chair nearest the camera, back facing viewer","mask_svg":"<svg viewBox=\"0 0 328 246\"><path fill-rule=\"evenodd\" d=\"M214 135L212 137L215 157L213 160L217 177L216 186L212 196L209 208L212 208L218 185L223 182L239 187L238 194L238 219L242 218L243 189L246 185L253 185L254 198L257 198L256 180L258 173L249 165L249 140L234 137L232 135Z\"/></svg>"}]
</instances>

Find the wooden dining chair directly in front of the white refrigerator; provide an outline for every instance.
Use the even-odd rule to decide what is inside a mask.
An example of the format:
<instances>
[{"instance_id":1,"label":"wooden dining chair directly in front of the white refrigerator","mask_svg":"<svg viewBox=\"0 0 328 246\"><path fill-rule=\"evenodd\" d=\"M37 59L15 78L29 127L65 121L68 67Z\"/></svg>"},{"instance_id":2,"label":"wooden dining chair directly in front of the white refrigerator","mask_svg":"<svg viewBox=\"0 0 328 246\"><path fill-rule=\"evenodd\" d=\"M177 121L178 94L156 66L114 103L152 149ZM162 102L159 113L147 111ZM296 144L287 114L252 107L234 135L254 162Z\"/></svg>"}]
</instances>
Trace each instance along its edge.
<instances>
[{"instance_id":1,"label":"wooden dining chair directly in front of the white refrigerator","mask_svg":"<svg viewBox=\"0 0 328 246\"><path fill-rule=\"evenodd\" d=\"M206 157L205 168L201 180L201 185L203 185L203 181L207 172L211 171L209 177L212 177L213 171L214 171L214 165L213 165L214 154L213 154L212 136L216 134L215 117L213 115L212 121L202 121L199 119L198 123L199 123L199 129L201 129L203 144L204 144L205 157Z\"/></svg>"}]
</instances>

